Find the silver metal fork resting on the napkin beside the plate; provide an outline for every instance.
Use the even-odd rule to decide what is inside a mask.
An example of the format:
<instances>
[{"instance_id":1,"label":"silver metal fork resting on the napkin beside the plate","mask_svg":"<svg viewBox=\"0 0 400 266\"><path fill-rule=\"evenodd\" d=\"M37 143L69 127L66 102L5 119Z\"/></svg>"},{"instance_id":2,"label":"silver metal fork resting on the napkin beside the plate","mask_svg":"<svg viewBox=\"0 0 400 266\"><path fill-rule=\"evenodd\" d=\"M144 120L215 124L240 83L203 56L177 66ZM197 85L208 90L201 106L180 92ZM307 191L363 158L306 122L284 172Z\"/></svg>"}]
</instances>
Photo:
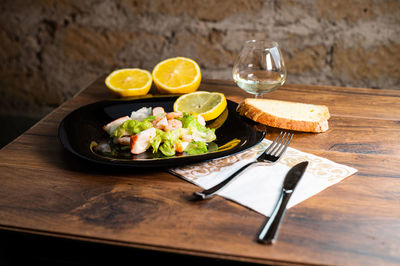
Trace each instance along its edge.
<instances>
[{"instance_id":1,"label":"silver metal fork resting on the napkin beside the plate","mask_svg":"<svg viewBox=\"0 0 400 266\"><path fill-rule=\"evenodd\" d=\"M232 182L237 176L239 176L241 173L243 173L244 170L247 169L249 166L251 166L255 163L268 163L269 165L277 163L279 161L279 159L282 158L282 155L285 153L292 138L293 138L292 133L281 131L281 133L279 133L279 135L275 138L275 140L268 146L268 148L255 161L251 161L251 162L247 163L246 165L242 166L235 173L230 175L228 178L226 178L222 182L216 184L215 186L213 186L209 189L203 190L201 192L194 192L193 195L197 199L200 199L200 200L208 199L208 198L214 196L218 191L220 191L222 188L224 188L227 184Z\"/></svg>"}]
</instances>

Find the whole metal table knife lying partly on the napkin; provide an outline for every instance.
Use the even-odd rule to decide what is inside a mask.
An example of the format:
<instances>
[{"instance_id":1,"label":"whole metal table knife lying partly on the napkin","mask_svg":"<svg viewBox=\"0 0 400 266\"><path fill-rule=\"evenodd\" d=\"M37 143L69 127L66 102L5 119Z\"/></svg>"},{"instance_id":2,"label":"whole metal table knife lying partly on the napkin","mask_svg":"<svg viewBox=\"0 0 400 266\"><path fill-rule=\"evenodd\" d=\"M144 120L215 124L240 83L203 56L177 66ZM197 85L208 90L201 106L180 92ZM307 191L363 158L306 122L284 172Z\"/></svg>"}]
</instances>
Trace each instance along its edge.
<instances>
[{"instance_id":1,"label":"whole metal table knife lying partly on the napkin","mask_svg":"<svg viewBox=\"0 0 400 266\"><path fill-rule=\"evenodd\" d=\"M259 242L266 244L273 244L275 242L276 238L278 237L279 226L286 212L286 205L288 204L289 199L292 196L293 191L299 183L301 177L306 171L307 165L308 161L296 164L286 174L285 180L283 181L282 192L278 202L276 203L274 211L258 235Z\"/></svg>"}]
</instances>

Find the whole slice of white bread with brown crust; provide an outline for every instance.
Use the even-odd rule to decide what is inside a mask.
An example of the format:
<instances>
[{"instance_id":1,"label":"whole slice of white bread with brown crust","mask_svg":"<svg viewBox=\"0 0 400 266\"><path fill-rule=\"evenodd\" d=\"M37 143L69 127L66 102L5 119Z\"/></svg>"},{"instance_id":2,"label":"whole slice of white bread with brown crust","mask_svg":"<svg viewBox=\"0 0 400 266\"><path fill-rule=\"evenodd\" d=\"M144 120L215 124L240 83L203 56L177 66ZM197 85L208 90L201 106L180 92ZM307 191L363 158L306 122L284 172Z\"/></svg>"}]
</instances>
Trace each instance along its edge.
<instances>
[{"instance_id":1,"label":"whole slice of white bread with brown crust","mask_svg":"<svg viewBox=\"0 0 400 266\"><path fill-rule=\"evenodd\" d=\"M324 105L248 98L239 104L237 111L271 127L315 133L329 128L330 114Z\"/></svg>"}]
</instances>

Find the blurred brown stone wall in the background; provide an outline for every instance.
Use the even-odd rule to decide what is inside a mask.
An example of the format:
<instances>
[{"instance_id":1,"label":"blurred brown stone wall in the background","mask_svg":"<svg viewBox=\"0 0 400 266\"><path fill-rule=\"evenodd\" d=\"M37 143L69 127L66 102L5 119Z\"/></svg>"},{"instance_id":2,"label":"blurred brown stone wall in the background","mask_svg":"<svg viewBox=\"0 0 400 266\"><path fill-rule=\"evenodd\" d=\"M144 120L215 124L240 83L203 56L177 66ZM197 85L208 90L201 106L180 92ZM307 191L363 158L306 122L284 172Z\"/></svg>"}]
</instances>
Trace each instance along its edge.
<instances>
[{"instance_id":1,"label":"blurred brown stone wall in the background","mask_svg":"<svg viewBox=\"0 0 400 266\"><path fill-rule=\"evenodd\" d=\"M231 79L248 39L281 44L288 83L400 89L398 0L2 0L0 114L40 117L122 67L187 56Z\"/></svg>"}]
</instances>

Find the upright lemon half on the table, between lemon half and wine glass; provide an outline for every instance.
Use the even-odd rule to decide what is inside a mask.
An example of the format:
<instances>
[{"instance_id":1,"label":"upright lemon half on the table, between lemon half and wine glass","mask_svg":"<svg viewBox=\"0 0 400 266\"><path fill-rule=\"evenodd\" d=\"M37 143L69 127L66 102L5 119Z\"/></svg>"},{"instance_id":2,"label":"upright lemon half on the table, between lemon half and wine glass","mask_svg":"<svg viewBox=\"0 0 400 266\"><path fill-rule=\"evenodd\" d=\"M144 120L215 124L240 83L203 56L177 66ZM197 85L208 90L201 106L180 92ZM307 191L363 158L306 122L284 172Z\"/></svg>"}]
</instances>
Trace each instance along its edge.
<instances>
[{"instance_id":1,"label":"upright lemon half on the table, between lemon half and wine glass","mask_svg":"<svg viewBox=\"0 0 400 266\"><path fill-rule=\"evenodd\" d=\"M153 69L154 84L161 93L189 93L196 91L201 82L199 65L186 57L169 58Z\"/></svg>"}]
</instances>

